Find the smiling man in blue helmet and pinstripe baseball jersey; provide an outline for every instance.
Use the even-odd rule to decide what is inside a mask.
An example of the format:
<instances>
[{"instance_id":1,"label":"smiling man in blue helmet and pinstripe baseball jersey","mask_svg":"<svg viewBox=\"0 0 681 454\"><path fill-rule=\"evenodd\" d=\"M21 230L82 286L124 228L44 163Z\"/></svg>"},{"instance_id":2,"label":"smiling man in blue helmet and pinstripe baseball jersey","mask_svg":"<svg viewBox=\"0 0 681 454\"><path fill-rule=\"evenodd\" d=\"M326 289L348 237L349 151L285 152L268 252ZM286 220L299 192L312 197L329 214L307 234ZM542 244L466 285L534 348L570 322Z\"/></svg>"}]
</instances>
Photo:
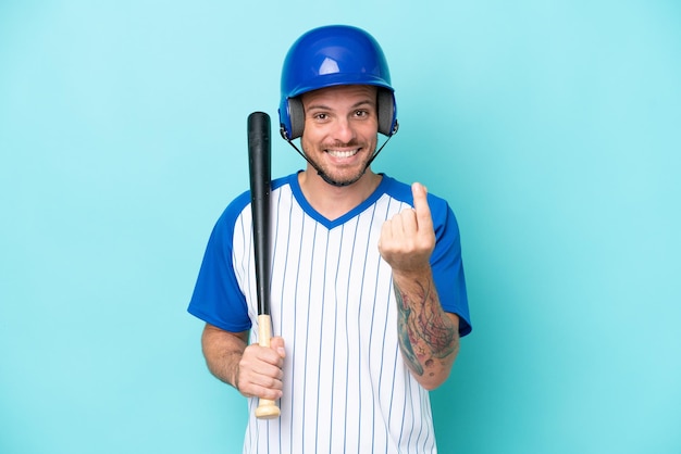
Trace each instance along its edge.
<instances>
[{"instance_id":1,"label":"smiling man in blue helmet and pinstripe baseball jersey","mask_svg":"<svg viewBox=\"0 0 681 454\"><path fill-rule=\"evenodd\" d=\"M377 133L397 130L377 42L347 26L300 37L280 119L307 167L272 182L275 337L258 345L248 192L218 220L189 305L209 369L250 400L244 452L436 452L428 391L471 330L459 231L444 200L370 167ZM256 419L258 398L281 417Z\"/></svg>"}]
</instances>

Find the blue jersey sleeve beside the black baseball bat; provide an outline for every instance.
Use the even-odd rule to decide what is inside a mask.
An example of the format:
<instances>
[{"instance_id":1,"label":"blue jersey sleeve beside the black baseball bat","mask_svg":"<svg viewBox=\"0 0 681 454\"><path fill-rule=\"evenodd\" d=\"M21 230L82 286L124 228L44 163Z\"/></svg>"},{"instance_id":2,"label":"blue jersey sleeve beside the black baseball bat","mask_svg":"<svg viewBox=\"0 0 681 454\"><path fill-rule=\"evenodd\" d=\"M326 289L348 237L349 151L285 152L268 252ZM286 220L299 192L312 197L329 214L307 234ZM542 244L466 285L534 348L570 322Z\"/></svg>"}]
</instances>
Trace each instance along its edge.
<instances>
[{"instance_id":1,"label":"blue jersey sleeve beside the black baseball bat","mask_svg":"<svg viewBox=\"0 0 681 454\"><path fill-rule=\"evenodd\" d=\"M206 323L231 332L250 329L246 299L233 267L232 239L248 193L235 199L215 223L199 270L188 312Z\"/></svg>"}]
</instances>

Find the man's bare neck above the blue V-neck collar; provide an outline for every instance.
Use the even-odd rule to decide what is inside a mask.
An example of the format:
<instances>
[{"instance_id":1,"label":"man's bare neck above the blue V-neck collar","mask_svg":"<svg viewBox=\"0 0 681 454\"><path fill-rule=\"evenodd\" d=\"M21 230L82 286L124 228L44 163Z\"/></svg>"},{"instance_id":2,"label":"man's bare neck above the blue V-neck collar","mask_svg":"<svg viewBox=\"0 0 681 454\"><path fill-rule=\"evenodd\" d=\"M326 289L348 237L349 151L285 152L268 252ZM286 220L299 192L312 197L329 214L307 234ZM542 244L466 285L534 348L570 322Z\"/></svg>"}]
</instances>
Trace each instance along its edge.
<instances>
[{"instance_id":1,"label":"man's bare neck above the blue V-neck collar","mask_svg":"<svg viewBox=\"0 0 681 454\"><path fill-rule=\"evenodd\" d=\"M337 219L367 200L379 187L381 179L381 175L368 168L354 184L338 187L324 181L310 165L298 174L300 190L308 203L331 220Z\"/></svg>"}]
</instances>

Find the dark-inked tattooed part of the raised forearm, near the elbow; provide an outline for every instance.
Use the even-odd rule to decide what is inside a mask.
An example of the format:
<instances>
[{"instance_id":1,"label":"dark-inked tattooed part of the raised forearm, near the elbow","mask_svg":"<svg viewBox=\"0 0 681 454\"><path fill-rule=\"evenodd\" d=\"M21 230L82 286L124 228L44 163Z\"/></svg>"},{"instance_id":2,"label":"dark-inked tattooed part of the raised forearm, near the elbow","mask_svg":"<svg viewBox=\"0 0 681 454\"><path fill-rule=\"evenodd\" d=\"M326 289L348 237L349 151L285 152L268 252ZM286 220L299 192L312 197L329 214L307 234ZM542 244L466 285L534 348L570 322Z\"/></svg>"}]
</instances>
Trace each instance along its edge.
<instances>
[{"instance_id":1,"label":"dark-inked tattooed part of the raised forearm, near the elbow","mask_svg":"<svg viewBox=\"0 0 681 454\"><path fill-rule=\"evenodd\" d=\"M399 342L403 354L414 374L435 375L434 369L447 367L458 348L458 332L442 311L432 281L416 281L411 291L395 283L398 306Z\"/></svg>"}]
</instances>

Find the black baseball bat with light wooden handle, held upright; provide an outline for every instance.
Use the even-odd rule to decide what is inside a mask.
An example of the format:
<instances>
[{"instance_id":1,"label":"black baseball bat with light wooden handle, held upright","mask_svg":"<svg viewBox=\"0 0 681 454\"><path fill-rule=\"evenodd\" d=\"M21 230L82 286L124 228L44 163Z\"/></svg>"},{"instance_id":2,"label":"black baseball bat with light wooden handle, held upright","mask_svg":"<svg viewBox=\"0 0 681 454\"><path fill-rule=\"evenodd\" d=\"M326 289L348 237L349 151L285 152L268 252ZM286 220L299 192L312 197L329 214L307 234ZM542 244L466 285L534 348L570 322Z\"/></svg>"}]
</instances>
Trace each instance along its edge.
<instances>
[{"instance_id":1,"label":"black baseball bat with light wooden handle, held upright","mask_svg":"<svg viewBox=\"0 0 681 454\"><path fill-rule=\"evenodd\" d=\"M264 112L248 115L248 169L250 176L250 207L253 225L256 287L258 297L258 343L270 346L270 182L272 179L272 146L270 116ZM274 401L260 399L256 417L276 418L280 408Z\"/></svg>"}]
</instances>

